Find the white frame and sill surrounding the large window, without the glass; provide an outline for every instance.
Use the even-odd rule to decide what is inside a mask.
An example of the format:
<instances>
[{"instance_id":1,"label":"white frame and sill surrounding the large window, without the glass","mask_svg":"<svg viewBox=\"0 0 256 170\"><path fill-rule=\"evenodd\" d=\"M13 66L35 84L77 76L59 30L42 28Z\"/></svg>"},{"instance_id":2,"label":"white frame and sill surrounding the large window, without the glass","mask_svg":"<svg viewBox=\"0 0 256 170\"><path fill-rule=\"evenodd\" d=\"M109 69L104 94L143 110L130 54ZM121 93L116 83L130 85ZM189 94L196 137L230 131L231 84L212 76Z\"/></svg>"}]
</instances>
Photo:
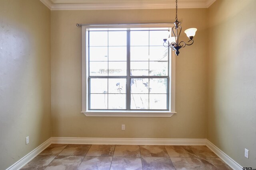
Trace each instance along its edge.
<instances>
[{"instance_id":1,"label":"white frame and sill surrounding the large window, without the glass","mask_svg":"<svg viewBox=\"0 0 256 170\"><path fill-rule=\"evenodd\" d=\"M170 50L169 59L169 109L166 111L152 110L89 110L88 108L88 31L90 28L152 28L173 27L173 24L118 24L118 25L82 25L82 111L86 116L92 117L171 117L175 112L175 55ZM171 52L172 51L172 52Z\"/></svg>"}]
</instances>

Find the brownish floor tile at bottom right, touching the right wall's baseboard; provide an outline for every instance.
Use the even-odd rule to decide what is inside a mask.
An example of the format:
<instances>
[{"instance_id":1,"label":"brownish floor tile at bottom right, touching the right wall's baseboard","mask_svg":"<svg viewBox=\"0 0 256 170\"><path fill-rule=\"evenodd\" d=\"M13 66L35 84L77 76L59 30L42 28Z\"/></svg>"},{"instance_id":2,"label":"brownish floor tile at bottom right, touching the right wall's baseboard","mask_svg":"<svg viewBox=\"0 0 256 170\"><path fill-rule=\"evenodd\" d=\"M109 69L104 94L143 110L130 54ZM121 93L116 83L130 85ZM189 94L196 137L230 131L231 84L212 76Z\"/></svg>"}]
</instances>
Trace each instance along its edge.
<instances>
[{"instance_id":1,"label":"brownish floor tile at bottom right, touching the right wall's baseboard","mask_svg":"<svg viewBox=\"0 0 256 170\"><path fill-rule=\"evenodd\" d=\"M200 158L209 170L232 170L220 158Z\"/></svg>"}]
</instances>

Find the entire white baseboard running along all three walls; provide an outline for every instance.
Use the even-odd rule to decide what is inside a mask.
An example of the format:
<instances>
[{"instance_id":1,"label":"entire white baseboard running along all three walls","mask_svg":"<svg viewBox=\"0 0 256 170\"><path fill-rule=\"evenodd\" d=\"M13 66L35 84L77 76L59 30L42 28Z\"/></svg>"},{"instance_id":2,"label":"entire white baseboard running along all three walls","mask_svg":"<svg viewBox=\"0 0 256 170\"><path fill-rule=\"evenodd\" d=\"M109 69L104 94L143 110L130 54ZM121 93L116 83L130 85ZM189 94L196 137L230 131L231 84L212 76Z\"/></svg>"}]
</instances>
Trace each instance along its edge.
<instances>
[{"instance_id":1,"label":"entire white baseboard running along all three walls","mask_svg":"<svg viewBox=\"0 0 256 170\"><path fill-rule=\"evenodd\" d=\"M26 156L18 160L6 170L18 170L36 157L52 143L65 144L94 144L94 145L206 145L220 159L234 170L242 170L242 166L218 149L207 139L146 139L146 138L73 138L73 137L51 137L42 145L32 150Z\"/></svg>"}]
</instances>

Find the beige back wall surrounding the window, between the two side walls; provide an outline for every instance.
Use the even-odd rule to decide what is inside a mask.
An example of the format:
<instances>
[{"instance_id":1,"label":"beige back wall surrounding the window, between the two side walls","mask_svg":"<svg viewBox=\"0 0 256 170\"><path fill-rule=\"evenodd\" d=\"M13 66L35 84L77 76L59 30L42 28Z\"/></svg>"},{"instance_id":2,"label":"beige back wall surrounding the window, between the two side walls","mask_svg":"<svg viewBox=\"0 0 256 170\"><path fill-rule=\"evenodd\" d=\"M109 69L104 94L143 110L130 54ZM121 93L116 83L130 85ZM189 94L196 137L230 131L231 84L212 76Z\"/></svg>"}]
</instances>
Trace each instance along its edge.
<instances>
[{"instance_id":1,"label":"beige back wall surrounding the window, between the two side walls","mask_svg":"<svg viewBox=\"0 0 256 170\"><path fill-rule=\"evenodd\" d=\"M180 9L195 43L176 59L176 115L170 118L86 117L82 111L81 27L76 23L173 22L174 10L51 12L52 137L206 138L207 9ZM182 32L183 32L182 31ZM181 39L188 40L185 33ZM121 124L126 130L121 131Z\"/></svg>"}]
</instances>

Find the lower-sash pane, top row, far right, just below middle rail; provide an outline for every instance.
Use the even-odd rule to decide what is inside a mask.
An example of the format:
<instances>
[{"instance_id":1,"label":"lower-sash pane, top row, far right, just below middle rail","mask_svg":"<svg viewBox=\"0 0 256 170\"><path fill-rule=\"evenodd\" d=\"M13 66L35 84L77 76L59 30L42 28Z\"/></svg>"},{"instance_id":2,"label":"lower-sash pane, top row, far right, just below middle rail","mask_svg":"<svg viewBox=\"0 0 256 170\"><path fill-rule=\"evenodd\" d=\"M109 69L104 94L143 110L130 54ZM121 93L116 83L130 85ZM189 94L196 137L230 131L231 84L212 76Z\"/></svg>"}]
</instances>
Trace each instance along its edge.
<instances>
[{"instance_id":1,"label":"lower-sash pane, top row, far right, just below middle rail","mask_svg":"<svg viewBox=\"0 0 256 170\"><path fill-rule=\"evenodd\" d=\"M150 78L149 93L167 93L167 78Z\"/></svg>"}]
</instances>

